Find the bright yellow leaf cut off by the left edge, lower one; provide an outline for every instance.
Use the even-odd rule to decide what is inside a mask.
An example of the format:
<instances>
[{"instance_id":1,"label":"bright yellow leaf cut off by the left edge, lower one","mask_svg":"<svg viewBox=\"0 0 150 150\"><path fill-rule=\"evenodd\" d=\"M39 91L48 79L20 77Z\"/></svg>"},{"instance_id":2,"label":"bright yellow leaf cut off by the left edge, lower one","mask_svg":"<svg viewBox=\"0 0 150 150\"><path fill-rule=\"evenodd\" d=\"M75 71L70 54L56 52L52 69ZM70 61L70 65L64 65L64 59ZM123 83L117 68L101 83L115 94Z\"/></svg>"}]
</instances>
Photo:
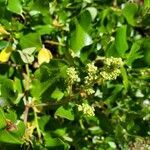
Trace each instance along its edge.
<instances>
[{"instance_id":1,"label":"bright yellow leaf cut off by the left edge, lower one","mask_svg":"<svg viewBox=\"0 0 150 150\"><path fill-rule=\"evenodd\" d=\"M4 48L0 52L0 62L2 62L2 63L7 62L9 60L9 57L10 57L12 51L13 51L13 48L11 46Z\"/></svg>"}]
</instances>

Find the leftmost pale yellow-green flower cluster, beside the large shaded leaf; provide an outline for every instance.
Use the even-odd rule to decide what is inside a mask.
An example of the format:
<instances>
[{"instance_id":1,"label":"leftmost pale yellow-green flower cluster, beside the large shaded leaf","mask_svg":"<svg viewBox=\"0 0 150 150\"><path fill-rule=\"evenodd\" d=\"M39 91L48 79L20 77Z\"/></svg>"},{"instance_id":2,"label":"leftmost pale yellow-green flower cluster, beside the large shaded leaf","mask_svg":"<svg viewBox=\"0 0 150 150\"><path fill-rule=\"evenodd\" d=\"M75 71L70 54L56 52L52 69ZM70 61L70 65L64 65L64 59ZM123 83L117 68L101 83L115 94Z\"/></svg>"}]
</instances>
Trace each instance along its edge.
<instances>
[{"instance_id":1,"label":"leftmost pale yellow-green flower cluster, beside the large shaded leaf","mask_svg":"<svg viewBox=\"0 0 150 150\"><path fill-rule=\"evenodd\" d=\"M69 67L67 69L67 75L69 77L69 84L73 84L75 82L79 82L80 81L78 73L77 73L77 71L75 70L74 67Z\"/></svg>"}]
</instances>

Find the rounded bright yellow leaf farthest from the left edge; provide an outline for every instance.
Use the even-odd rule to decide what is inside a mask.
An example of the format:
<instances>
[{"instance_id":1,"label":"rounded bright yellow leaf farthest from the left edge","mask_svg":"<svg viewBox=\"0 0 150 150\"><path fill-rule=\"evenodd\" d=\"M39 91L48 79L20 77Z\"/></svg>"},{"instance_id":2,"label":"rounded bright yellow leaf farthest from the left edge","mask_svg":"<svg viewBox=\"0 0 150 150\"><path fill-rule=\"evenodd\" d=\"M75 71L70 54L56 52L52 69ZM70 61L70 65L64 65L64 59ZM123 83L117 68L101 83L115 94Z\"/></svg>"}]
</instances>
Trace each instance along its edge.
<instances>
[{"instance_id":1,"label":"rounded bright yellow leaf farthest from the left edge","mask_svg":"<svg viewBox=\"0 0 150 150\"><path fill-rule=\"evenodd\" d=\"M50 50L46 48L42 48L38 53L38 63L41 65L42 63L46 62L49 63L49 61L53 58L52 53Z\"/></svg>"}]
</instances>

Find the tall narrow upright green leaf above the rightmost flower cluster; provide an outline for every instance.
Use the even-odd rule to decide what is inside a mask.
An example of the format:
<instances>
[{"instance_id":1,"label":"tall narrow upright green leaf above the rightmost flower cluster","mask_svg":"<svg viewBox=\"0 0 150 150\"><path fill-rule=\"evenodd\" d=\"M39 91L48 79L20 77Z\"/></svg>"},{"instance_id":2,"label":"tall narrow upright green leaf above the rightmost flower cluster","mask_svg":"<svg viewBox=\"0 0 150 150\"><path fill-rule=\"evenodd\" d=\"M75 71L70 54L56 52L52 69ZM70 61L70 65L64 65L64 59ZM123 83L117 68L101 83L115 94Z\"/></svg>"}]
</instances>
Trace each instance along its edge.
<instances>
[{"instance_id":1,"label":"tall narrow upright green leaf above the rightmost flower cluster","mask_svg":"<svg viewBox=\"0 0 150 150\"><path fill-rule=\"evenodd\" d=\"M128 49L127 43L127 26L123 25L118 28L115 39L115 47L120 56L123 56L125 51Z\"/></svg>"}]
</instances>

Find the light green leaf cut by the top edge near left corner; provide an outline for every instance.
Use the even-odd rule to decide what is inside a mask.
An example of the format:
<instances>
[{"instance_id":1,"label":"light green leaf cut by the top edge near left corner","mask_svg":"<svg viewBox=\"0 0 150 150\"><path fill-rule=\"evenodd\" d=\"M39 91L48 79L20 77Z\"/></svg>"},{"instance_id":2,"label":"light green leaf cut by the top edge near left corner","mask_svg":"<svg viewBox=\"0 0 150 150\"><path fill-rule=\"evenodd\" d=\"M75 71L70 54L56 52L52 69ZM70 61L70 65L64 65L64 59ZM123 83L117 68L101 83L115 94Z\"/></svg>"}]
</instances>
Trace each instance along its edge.
<instances>
[{"instance_id":1,"label":"light green leaf cut by the top edge near left corner","mask_svg":"<svg viewBox=\"0 0 150 150\"><path fill-rule=\"evenodd\" d=\"M22 14L22 5L20 0L8 0L7 9L16 14Z\"/></svg>"}]
</instances>

